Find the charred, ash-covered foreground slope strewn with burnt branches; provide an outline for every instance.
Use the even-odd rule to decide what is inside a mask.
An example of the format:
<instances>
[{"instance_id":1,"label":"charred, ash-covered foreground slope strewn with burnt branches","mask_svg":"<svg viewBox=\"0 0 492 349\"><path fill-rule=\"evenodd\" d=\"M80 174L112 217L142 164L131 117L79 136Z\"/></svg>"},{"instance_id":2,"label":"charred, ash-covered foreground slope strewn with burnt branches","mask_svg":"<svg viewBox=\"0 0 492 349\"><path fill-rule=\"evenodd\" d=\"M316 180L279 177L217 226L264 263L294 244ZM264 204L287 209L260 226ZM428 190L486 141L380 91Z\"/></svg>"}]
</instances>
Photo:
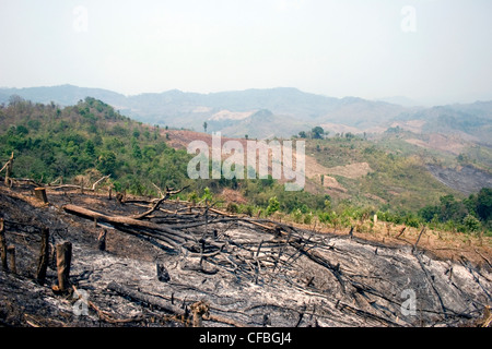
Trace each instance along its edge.
<instances>
[{"instance_id":1,"label":"charred, ash-covered foreground slope strewn with burnt branches","mask_svg":"<svg viewBox=\"0 0 492 349\"><path fill-rule=\"evenodd\" d=\"M164 201L142 226L96 222L147 212L150 198L0 186L0 218L16 274L0 270L3 326L477 326L492 303L483 263L446 260L411 244L319 233ZM70 207L70 206L69 206ZM35 280L40 229L49 228L46 281ZM154 229L159 227L159 229ZM97 238L106 229L106 250ZM72 243L70 282L54 292L54 246ZM160 270L160 273L157 273ZM195 315L194 315L195 314Z\"/></svg>"}]
</instances>

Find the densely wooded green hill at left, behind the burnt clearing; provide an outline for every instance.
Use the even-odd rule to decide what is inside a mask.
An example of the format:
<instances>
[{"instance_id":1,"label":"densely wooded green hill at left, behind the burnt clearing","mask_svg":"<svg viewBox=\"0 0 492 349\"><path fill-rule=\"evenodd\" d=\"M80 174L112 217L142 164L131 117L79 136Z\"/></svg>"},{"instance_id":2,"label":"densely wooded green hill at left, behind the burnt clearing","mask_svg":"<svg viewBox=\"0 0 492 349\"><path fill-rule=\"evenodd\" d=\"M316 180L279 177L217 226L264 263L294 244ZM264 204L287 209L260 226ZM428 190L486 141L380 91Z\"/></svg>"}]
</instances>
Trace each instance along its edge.
<instances>
[{"instance_id":1,"label":"densely wooded green hill at left, behind the burnt clearing","mask_svg":"<svg viewBox=\"0 0 492 349\"><path fill-rule=\"evenodd\" d=\"M0 109L1 157L15 153L14 176L71 181L87 171L110 174L116 190L138 194L151 183L181 185L184 151L166 146L159 127L122 117L94 98L61 108L14 97Z\"/></svg>"}]
</instances>

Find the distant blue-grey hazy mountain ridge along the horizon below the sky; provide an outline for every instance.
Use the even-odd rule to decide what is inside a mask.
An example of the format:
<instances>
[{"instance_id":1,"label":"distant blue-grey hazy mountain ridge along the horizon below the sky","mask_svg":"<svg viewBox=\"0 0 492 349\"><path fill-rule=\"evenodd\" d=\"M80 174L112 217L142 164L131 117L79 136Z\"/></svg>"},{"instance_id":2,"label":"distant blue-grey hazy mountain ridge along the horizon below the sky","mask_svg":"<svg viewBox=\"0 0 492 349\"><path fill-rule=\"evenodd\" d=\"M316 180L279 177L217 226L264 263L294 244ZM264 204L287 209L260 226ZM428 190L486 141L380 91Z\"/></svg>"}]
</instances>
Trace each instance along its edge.
<instances>
[{"instance_id":1,"label":"distant blue-grey hazy mountain ridge along the horizon below the sky","mask_svg":"<svg viewBox=\"0 0 492 349\"><path fill-rule=\"evenodd\" d=\"M465 133L482 143L492 142L492 101L423 108L359 97L327 97L293 87L210 94L172 89L125 96L103 88L60 85L0 88L0 103L8 103L11 95L62 106L90 96L142 122L196 131L204 130L207 122L207 132L221 131L226 136L291 136L315 125L371 133L384 132L395 122L405 128L405 122L423 120L422 132Z\"/></svg>"}]
</instances>

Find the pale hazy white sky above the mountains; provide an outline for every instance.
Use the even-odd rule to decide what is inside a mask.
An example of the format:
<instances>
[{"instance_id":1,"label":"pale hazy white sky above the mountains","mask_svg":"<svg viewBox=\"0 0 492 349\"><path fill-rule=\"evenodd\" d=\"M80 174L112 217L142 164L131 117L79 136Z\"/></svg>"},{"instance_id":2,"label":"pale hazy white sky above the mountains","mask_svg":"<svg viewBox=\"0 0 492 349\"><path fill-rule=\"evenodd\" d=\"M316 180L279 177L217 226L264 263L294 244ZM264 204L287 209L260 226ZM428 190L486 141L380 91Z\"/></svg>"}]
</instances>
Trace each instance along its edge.
<instances>
[{"instance_id":1,"label":"pale hazy white sky above the mountains","mask_svg":"<svg viewBox=\"0 0 492 349\"><path fill-rule=\"evenodd\" d=\"M0 0L0 86L492 99L491 0Z\"/></svg>"}]
</instances>

